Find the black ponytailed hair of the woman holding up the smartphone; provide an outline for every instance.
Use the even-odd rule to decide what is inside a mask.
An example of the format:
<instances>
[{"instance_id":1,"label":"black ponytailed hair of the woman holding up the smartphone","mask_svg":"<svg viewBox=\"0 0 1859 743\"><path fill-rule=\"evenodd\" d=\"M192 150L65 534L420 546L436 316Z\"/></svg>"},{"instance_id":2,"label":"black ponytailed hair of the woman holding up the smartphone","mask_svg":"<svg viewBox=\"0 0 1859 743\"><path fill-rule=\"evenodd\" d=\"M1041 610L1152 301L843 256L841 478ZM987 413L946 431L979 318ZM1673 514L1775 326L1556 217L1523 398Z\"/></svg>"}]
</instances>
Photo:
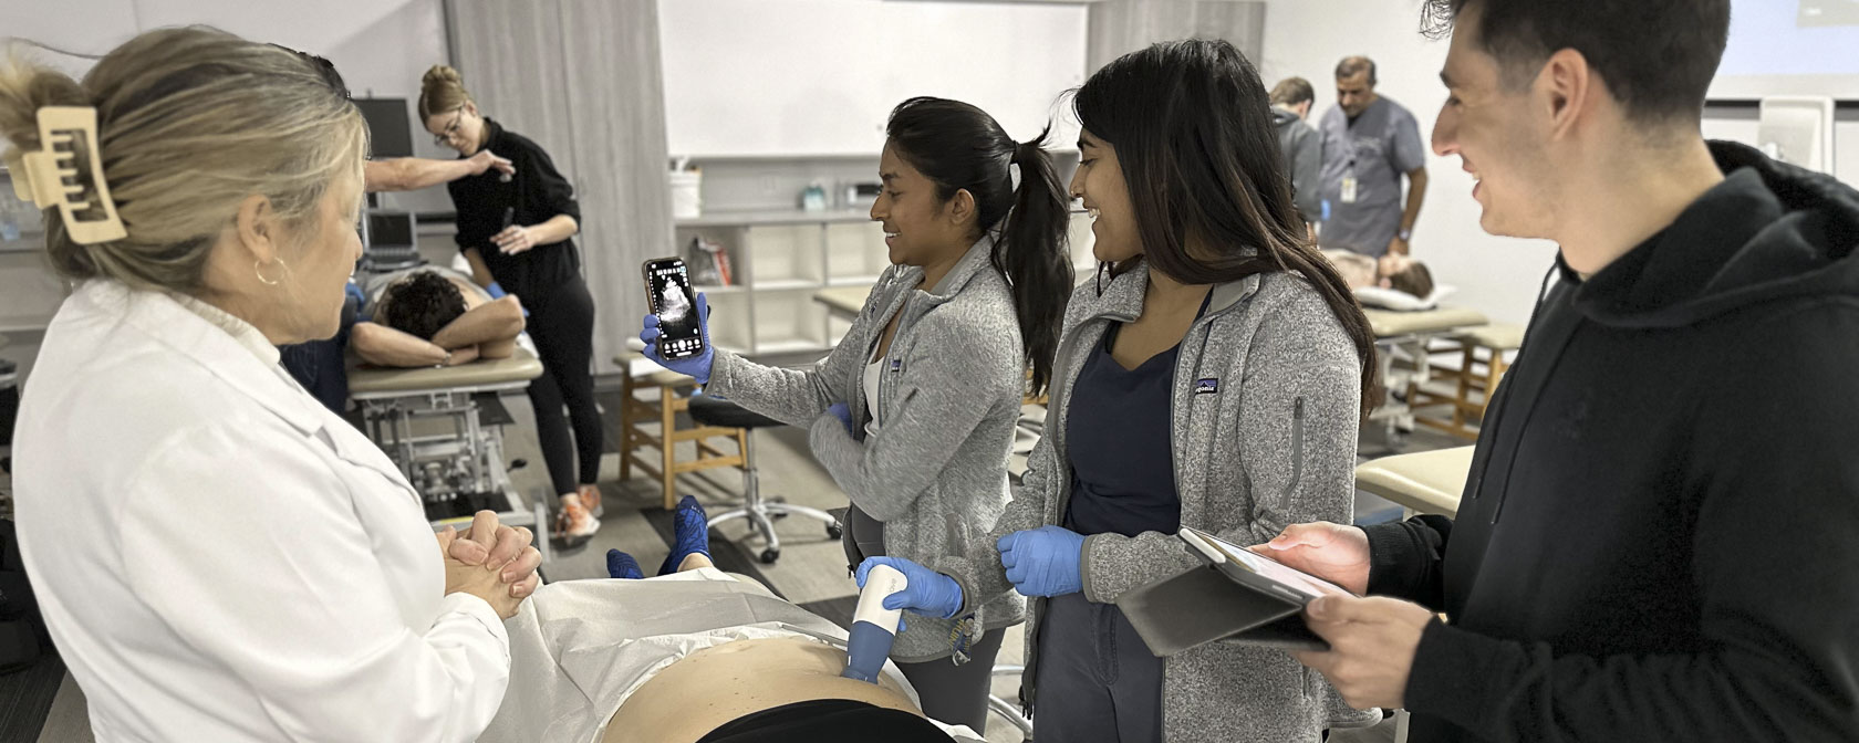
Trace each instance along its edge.
<instances>
[{"instance_id":1,"label":"black ponytailed hair of the woman holding up the smartphone","mask_svg":"<svg viewBox=\"0 0 1859 743\"><path fill-rule=\"evenodd\" d=\"M898 104L885 126L896 152L937 184L937 199L948 201L956 191L974 197L976 225L995 236L989 260L1013 286L1021 349L1032 368L1030 394L1045 392L1052 381L1073 286L1071 210L1045 150L1048 132L1019 143L980 108L928 97Z\"/></svg>"}]
</instances>

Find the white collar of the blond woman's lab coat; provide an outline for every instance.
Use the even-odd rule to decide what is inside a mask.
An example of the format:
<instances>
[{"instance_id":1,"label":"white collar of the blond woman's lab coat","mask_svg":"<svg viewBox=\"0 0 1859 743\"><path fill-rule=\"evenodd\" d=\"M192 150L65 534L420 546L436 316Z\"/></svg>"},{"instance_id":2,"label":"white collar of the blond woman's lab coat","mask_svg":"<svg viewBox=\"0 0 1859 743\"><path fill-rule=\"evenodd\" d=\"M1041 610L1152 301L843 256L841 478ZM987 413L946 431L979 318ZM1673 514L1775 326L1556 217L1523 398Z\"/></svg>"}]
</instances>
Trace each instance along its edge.
<instances>
[{"instance_id":1,"label":"white collar of the blond woman's lab coat","mask_svg":"<svg viewBox=\"0 0 1859 743\"><path fill-rule=\"evenodd\" d=\"M84 282L71 301L95 321L117 319L147 332L305 435L323 427L322 405L277 366L277 349L244 319L199 299L104 279Z\"/></svg>"}]
</instances>

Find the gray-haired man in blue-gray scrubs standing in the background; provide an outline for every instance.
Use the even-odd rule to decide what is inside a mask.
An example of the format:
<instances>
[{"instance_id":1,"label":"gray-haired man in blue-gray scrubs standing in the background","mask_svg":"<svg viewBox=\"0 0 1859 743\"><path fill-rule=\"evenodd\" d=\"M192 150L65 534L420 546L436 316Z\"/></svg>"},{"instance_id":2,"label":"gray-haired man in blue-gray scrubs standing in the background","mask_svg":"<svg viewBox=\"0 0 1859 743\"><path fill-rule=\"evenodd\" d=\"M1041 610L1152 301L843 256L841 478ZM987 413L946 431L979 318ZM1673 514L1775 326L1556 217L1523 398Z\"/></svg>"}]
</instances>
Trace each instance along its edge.
<instances>
[{"instance_id":1,"label":"gray-haired man in blue-gray scrubs standing in the background","mask_svg":"<svg viewBox=\"0 0 1859 743\"><path fill-rule=\"evenodd\" d=\"M1337 65L1337 108L1324 113L1318 130L1329 204L1318 241L1366 256L1407 254L1407 238L1426 201L1426 143L1413 113L1376 95L1372 59L1346 58Z\"/></svg>"}]
</instances>

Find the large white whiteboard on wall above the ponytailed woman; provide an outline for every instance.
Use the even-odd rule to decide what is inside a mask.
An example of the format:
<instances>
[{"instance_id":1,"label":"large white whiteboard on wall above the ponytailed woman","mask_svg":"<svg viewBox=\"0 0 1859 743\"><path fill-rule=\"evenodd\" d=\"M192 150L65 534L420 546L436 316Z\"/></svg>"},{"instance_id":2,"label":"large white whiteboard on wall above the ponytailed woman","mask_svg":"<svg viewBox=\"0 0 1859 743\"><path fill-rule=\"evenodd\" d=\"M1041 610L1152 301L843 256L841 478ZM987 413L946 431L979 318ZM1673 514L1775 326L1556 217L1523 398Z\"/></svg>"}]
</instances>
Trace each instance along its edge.
<instances>
[{"instance_id":1,"label":"large white whiteboard on wall above the ponytailed woman","mask_svg":"<svg viewBox=\"0 0 1859 743\"><path fill-rule=\"evenodd\" d=\"M671 154L877 154L885 117L935 95L1015 139L1084 84L1086 6L889 0L658 0Z\"/></svg>"}]
</instances>

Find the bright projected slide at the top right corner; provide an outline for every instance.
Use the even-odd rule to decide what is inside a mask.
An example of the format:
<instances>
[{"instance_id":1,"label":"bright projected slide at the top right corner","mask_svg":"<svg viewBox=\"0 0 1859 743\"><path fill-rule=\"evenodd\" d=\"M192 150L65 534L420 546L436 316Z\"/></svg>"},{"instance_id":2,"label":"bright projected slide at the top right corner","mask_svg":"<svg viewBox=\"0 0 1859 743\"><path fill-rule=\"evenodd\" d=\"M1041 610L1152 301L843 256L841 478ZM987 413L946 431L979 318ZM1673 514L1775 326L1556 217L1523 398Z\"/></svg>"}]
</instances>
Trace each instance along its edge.
<instances>
[{"instance_id":1,"label":"bright projected slide at the top right corner","mask_svg":"<svg viewBox=\"0 0 1859 743\"><path fill-rule=\"evenodd\" d=\"M1731 0L1712 98L1859 98L1859 0Z\"/></svg>"}]
</instances>

